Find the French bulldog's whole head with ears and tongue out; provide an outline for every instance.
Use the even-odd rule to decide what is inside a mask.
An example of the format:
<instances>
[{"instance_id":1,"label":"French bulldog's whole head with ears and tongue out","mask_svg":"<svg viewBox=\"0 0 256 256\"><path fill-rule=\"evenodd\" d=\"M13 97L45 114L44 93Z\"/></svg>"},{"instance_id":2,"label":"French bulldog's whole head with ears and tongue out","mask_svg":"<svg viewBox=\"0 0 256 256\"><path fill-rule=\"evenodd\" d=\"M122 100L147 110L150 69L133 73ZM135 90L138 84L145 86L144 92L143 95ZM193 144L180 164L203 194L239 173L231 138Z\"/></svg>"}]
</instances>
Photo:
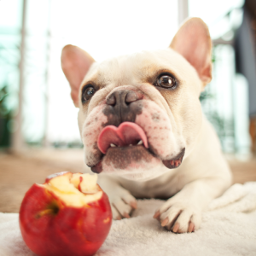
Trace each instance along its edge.
<instances>
[{"instance_id":1,"label":"French bulldog's whole head with ears and tongue out","mask_svg":"<svg viewBox=\"0 0 256 256\"><path fill-rule=\"evenodd\" d=\"M64 47L62 69L93 172L147 179L181 165L201 130L199 96L212 78L211 48L198 18L181 26L168 49L97 63L83 49Z\"/></svg>"}]
</instances>

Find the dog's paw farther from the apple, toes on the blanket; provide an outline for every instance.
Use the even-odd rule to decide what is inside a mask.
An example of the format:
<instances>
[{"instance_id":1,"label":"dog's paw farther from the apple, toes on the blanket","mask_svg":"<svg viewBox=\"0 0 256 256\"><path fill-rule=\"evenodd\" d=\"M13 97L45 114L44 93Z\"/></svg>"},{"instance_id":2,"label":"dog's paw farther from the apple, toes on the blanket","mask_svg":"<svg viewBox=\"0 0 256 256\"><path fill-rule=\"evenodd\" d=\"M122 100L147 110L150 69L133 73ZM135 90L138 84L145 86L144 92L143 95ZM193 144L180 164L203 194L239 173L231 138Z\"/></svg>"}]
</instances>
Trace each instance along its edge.
<instances>
[{"instance_id":1,"label":"dog's paw farther from the apple, toes on the blanket","mask_svg":"<svg viewBox=\"0 0 256 256\"><path fill-rule=\"evenodd\" d=\"M174 233L194 232L201 224L201 210L184 202L169 199L155 213L154 218L160 221L161 226Z\"/></svg>"}]
</instances>

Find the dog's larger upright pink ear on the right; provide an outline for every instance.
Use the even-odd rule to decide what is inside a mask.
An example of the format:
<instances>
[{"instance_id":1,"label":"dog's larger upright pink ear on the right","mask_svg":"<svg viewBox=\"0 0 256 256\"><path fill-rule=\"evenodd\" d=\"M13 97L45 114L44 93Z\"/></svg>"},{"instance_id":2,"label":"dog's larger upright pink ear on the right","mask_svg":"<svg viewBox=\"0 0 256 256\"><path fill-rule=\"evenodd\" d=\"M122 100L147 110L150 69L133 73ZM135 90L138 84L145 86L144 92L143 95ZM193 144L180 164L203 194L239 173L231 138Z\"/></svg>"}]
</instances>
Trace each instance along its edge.
<instances>
[{"instance_id":1,"label":"dog's larger upright pink ear on the right","mask_svg":"<svg viewBox=\"0 0 256 256\"><path fill-rule=\"evenodd\" d=\"M195 67L202 83L212 80L212 41L206 23L200 18L191 18L183 23L170 44Z\"/></svg>"}]
</instances>

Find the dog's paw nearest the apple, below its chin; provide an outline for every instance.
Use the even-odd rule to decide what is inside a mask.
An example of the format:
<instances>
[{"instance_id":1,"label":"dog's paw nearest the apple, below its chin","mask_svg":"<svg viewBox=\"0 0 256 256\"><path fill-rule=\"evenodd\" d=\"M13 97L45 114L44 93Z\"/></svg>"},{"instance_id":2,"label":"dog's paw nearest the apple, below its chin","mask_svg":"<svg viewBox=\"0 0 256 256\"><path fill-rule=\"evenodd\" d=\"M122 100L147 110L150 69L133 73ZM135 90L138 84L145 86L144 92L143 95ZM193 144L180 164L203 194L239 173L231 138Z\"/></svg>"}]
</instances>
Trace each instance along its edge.
<instances>
[{"instance_id":1,"label":"dog's paw nearest the apple, below its chin","mask_svg":"<svg viewBox=\"0 0 256 256\"><path fill-rule=\"evenodd\" d=\"M132 210L137 208L136 199L126 189L119 188L108 197L113 219L130 218Z\"/></svg>"}]
</instances>

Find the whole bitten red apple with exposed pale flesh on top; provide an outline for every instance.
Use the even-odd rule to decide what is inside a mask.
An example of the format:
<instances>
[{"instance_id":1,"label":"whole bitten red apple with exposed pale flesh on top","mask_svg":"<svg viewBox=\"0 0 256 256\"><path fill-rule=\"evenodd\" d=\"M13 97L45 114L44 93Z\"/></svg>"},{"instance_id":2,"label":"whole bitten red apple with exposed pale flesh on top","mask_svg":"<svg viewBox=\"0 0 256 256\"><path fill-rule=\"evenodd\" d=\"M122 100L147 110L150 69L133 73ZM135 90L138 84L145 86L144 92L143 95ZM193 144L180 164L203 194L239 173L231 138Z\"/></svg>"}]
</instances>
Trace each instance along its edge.
<instances>
[{"instance_id":1,"label":"whole bitten red apple with exposed pale flesh on top","mask_svg":"<svg viewBox=\"0 0 256 256\"><path fill-rule=\"evenodd\" d=\"M20 207L20 231L39 256L93 255L108 236L112 212L97 176L60 172L33 184Z\"/></svg>"}]
</instances>

